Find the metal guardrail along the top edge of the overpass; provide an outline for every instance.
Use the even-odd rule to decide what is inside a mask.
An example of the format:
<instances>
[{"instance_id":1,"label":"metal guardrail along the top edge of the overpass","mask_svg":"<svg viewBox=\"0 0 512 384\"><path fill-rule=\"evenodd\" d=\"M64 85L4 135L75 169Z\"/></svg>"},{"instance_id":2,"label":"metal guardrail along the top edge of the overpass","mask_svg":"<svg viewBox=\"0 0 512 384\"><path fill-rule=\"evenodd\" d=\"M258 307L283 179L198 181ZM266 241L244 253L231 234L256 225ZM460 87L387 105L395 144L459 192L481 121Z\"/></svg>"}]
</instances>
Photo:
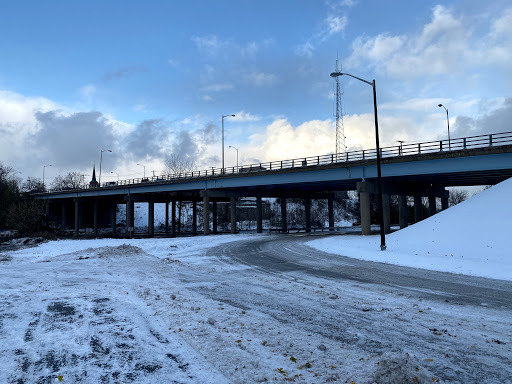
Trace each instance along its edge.
<instances>
[{"instance_id":1,"label":"metal guardrail along the top edge of the overpass","mask_svg":"<svg viewBox=\"0 0 512 384\"><path fill-rule=\"evenodd\" d=\"M391 157L406 157L406 156L414 156L425 153L446 153L448 151L460 151L466 149L475 149L475 148L486 148L486 147L495 147L500 145L510 145L512 144L512 132L502 132L502 133L493 133L487 135L479 135L479 136L468 136L458 139L448 140L438 140L438 141L427 141L422 143L414 143L414 144L401 144L394 145L390 147L383 147L380 149L381 158L391 158ZM372 160L377 156L376 149L363 149L360 151L351 151L345 153L333 153L321 156L309 156L309 157L301 157L296 159L289 160L279 160L279 161L270 161L265 163L255 163L248 165L241 165L236 167L226 167L215 168L211 167L210 169L201 170L201 171L191 171L185 173L175 173L172 175L161 175L161 176L153 176L148 178L135 178L135 179L126 179L120 180L115 185L113 182L104 183L103 186L98 186L94 188L82 188L82 189L99 189L99 188L117 188L120 186L126 185L134 185L134 184L154 184L154 183L162 183L166 184L169 181L178 181L183 179L195 179L195 178L204 178L204 177L212 177L212 176L222 176L222 175L247 175L253 172L262 172L262 171L276 171L281 169L291 169L291 168L304 168L304 167L316 167L319 165L328 165L334 163L350 163L353 161L361 161L361 160ZM65 191L76 191L82 189L74 189ZM61 189L52 189L48 193L52 192L61 192Z\"/></svg>"}]
</instances>

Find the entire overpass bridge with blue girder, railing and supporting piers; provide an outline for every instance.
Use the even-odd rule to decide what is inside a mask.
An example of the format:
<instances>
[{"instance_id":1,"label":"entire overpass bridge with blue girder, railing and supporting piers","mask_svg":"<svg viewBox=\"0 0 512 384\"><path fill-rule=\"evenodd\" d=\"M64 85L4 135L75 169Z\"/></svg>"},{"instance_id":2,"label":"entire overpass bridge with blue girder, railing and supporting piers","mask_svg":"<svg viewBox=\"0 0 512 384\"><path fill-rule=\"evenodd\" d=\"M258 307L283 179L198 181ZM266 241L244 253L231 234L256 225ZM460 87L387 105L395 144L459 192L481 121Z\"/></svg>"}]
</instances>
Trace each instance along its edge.
<instances>
[{"instance_id":1,"label":"entire overpass bridge with blue girder, railing and supporting piers","mask_svg":"<svg viewBox=\"0 0 512 384\"><path fill-rule=\"evenodd\" d=\"M446 187L490 185L512 177L512 132L430 141L381 149L384 224L390 229L390 196L398 196L399 224L407 226L407 196L414 197L414 221L423 217L422 197L429 214L436 199L448 208ZM370 195L377 193L376 150L328 154L291 160L210 168L148 179L121 180L87 189L52 190L39 194L46 213L62 227L74 222L75 234L88 225L116 231L117 204L126 204L126 231L131 235L134 203L148 203L148 231L154 235L154 204L166 204L166 231L176 234L176 202L190 201L193 232L197 232L197 204L203 206L203 232L217 232L217 203L229 202L231 232L236 232L237 199L256 198L257 231L263 230L262 198L281 201L281 229L287 231L286 199L304 199L306 231L311 229L311 199L327 199L329 226L334 227L333 198L339 191L357 190L363 234L370 233ZM169 225L169 205L171 205ZM212 213L210 217L210 212ZM210 221L211 220L211 221Z\"/></svg>"}]
</instances>

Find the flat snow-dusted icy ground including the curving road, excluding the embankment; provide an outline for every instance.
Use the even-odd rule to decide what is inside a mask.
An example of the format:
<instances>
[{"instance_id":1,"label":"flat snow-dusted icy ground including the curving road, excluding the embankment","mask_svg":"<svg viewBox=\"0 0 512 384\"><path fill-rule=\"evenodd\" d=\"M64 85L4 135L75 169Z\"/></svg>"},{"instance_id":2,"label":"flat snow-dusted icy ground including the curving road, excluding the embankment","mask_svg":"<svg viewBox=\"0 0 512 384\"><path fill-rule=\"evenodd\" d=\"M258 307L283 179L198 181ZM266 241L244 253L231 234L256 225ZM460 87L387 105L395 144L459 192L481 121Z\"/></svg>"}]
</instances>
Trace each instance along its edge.
<instances>
[{"instance_id":1,"label":"flat snow-dusted icy ground including the curving road, excluding the embankment","mask_svg":"<svg viewBox=\"0 0 512 384\"><path fill-rule=\"evenodd\" d=\"M333 256L307 240L2 252L0 383L384 383L374 374L390 356L412 362L410 382L511 382L510 282Z\"/></svg>"}]
</instances>

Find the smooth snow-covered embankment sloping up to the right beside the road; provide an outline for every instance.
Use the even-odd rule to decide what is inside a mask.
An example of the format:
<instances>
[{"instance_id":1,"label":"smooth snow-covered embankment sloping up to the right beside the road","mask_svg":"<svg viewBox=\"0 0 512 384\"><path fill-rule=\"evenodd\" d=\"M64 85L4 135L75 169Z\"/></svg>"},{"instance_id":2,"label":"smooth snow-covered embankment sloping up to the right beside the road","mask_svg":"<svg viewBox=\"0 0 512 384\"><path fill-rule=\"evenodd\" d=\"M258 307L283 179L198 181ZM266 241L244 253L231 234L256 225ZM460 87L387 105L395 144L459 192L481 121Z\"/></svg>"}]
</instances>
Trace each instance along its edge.
<instances>
[{"instance_id":1,"label":"smooth snow-covered embankment sloping up to the right beside the road","mask_svg":"<svg viewBox=\"0 0 512 384\"><path fill-rule=\"evenodd\" d=\"M358 259L512 280L510 225L512 179L386 236L337 236L314 240L318 250Z\"/></svg>"}]
</instances>

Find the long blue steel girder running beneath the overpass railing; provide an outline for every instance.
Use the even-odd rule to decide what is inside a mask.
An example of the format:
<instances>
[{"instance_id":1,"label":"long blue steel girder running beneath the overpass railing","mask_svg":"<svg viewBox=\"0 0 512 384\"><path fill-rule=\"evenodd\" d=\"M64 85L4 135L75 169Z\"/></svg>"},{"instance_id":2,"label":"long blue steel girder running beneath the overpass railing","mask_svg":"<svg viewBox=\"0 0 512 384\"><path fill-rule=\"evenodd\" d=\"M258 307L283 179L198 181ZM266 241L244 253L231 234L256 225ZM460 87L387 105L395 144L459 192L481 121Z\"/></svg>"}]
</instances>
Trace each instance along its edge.
<instances>
[{"instance_id":1,"label":"long blue steel girder running beneath the overpass railing","mask_svg":"<svg viewBox=\"0 0 512 384\"><path fill-rule=\"evenodd\" d=\"M488 147L474 150L447 151L445 153L419 154L382 160L384 182L410 182L461 186L493 184L512 177L512 146ZM153 195L164 201L190 195L186 199L200 198L204 190L236 191L235 196L254 196L257 190L263 197L306 196L307 193L356 189L360 181L375 181L375 160L338 162L279 170L264 170L247 174L222 174L218 176L176 179L165 182L130 184L112 188L83 189L40 194L38 199L69 199L76 197L111 197L125 195ZM230 192L231 193L231 192ZM156 197L160 196L160 197ZM228 194L222 195L223 197ZM222 197L221 196L221 197ZM119 200L118 200L119 201ZM155 200L156 201L156 200Z\"/></svg>"}]
</instances>

